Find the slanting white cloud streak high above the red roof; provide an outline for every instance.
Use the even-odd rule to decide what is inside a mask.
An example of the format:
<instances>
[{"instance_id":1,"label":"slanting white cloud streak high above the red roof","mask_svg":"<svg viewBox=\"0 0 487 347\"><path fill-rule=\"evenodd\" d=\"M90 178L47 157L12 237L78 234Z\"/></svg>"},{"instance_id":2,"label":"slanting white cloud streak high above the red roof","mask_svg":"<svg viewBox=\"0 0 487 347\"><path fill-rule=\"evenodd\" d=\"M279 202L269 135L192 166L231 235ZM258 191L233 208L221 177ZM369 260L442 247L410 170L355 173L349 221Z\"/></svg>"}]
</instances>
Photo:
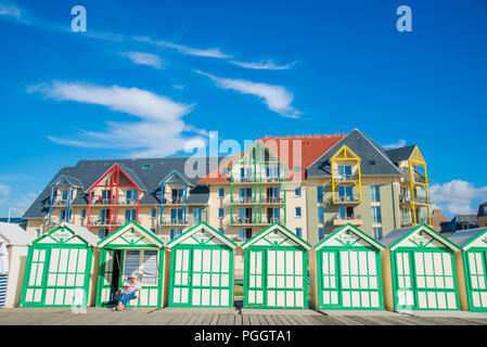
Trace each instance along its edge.
<instances>
[{"instance_id":1,"label":"slanting white cloud streak high above the red roof","mask_svg":"<svg viewBox=\"0 0 487 347\"><path fill-rule=\"evenodd\" d=\"M220 78L200 70L196 73L209 77L219 88L260 98L269 110L283 117L299 118L300 112L291 106L294 99L293 93L282 86L257 83L244 79Z\"/></svg>"}]
</instances>

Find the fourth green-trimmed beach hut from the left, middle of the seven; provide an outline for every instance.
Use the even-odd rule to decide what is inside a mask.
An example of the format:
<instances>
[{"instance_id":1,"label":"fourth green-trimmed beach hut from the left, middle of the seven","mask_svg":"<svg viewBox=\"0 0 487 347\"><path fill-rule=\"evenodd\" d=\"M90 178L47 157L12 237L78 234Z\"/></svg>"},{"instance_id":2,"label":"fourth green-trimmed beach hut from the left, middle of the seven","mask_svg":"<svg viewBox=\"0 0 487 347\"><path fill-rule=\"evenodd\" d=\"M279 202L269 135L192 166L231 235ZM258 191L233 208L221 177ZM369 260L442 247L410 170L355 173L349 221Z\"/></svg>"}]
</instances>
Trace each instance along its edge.
<instances>
[{"instance_id":1,"label":"fourth green-trimmed beach hut from the left, middle of the seven","mask_svg":"<svg viewBox=\"0 0 487 347\"><path fill-rule=\"evenodd\" d=\"M244 307L308 308L308 250L306 241L279 223L242 245L244 249Z\"/></svg>"}]
</instances>

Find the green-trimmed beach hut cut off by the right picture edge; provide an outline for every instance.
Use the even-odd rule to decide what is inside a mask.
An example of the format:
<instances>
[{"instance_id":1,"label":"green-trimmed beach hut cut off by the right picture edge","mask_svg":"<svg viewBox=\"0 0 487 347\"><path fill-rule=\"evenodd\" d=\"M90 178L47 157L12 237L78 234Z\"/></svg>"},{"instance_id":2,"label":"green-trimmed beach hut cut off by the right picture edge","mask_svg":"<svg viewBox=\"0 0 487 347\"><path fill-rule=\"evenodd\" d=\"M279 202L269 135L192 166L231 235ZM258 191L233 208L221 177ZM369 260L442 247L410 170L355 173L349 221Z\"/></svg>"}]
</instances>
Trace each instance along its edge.
<instances>
[{"instance_id":1,"label":"green-trimmed beach hut cut off by the right picture edge","mask_svg":"<svg viewBox=\"0 0 487 347\"><path fill-rule=\"evenodd\" d=\"M448 240L462 248L456 254L462 309L486 312L487 228L457 231Z\"/></svg>"}]
</instances>

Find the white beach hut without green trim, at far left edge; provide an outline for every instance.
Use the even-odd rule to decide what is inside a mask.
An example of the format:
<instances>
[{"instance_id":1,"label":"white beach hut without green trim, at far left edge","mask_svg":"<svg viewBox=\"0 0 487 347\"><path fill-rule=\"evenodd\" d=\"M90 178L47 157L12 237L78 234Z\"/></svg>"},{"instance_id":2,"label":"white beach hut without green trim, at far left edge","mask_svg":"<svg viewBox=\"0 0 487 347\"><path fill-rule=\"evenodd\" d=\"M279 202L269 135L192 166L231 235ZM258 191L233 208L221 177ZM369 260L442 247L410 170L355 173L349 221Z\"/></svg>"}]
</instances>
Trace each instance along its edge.
<instances>
[{"instance_id":1,"label":"white beach hut without green trim, at far left edge","mask_svg":"<svg viewBox=\"0 0 487 347\"><path fill-rule=\"evenodd\" d=\"M17 307L28 244L34 240L17 224L0 223L0 307Z\"/></svg>"}]
</instances>

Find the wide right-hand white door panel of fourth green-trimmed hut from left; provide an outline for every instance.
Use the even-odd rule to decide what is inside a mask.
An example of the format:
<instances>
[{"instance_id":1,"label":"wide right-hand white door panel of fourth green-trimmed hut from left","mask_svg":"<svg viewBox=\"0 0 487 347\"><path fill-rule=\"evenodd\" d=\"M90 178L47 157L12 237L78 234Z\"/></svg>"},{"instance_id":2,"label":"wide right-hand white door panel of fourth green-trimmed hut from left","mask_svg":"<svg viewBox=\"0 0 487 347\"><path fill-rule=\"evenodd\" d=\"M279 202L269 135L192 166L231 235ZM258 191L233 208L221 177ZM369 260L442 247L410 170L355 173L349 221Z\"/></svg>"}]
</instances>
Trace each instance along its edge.
<instances>
[{"instance_id":1,"label":"wide right-hand white door panel of fourth green-trimmed hut from left","mask_svg":"<svg viewBox=\"0 0 487 347\"><path fill-rule=\"evenodd\" d=\"M303 252L267 250L267 306L304 305Z\"/></svg>"}]
</instances>

